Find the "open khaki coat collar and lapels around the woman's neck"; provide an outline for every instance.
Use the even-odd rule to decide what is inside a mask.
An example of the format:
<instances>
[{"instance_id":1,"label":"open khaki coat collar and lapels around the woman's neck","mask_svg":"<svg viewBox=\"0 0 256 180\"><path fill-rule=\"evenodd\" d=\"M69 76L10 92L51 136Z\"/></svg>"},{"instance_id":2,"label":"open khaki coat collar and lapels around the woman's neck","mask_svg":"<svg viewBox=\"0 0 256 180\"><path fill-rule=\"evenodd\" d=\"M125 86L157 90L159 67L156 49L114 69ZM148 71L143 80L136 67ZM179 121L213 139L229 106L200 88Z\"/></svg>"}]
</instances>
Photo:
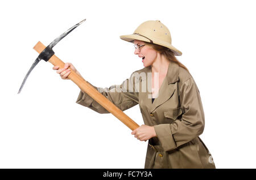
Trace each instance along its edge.
<instances>
[{"instance_id":1,"label":"open khaki coat collar and lapels around the woman's neck","mask_svg":"<svg viewBox=\"0 0 256 180\"><path fill-rule=\"evenodd\" d=\"M147 72L152 72L151 66L147 67ZM151 101L151 98L152 98L151 92L146 93L145 98L147 98L147 101L148 101L147 104L149 105L150 113L152 113L158 106L166 102L174 94L175 86L173 83L179 80L178 72L179 72L179 65L177 65L174 62L170 62L168 66L166 78L164 78L163 83L159 89L158 97L155 98L153 103ZM149 78L150 80L148 80L148 83L150 83L150 85L148 87L151 88L151 76Z\"/></svg>"}]
</instances>

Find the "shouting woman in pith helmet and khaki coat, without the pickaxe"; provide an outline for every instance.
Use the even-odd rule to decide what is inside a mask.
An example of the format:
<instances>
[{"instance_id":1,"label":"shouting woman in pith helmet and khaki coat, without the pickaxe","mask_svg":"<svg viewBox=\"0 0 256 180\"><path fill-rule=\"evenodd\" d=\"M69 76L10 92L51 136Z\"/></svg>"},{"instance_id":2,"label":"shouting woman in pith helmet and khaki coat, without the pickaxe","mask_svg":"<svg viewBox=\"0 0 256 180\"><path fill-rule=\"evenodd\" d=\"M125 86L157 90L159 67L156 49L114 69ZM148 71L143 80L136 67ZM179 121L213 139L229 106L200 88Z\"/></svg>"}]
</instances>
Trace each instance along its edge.
<instances>
[{"instance_id":1,"label":"shouting woman in pith helmet and khaki coat, without the pickaxe","mask_svg":"<svg viewBox=\"0 0 256 180\"><path fill-rule=\"evenodd\" d=\"M175 55L182 53L171 45L168 28L159 20L150 20L132 35L120 38L134 43L134 54L142 58L144 68L134 71L119 87L94 88L121 110L139 104L145 125L131 134L138 140L148 140L144 168L215 168L199 138L204 130L199 89L187 68L177 61ZM53 69L62 79L68 79L68 67L79 74L71 63ZM150 88L142 91L145 85ZM133 91L127 91L128 87ZM109 113L85 92L80 92L76 102L98 113Z\"/></svg>"}]
</instances>

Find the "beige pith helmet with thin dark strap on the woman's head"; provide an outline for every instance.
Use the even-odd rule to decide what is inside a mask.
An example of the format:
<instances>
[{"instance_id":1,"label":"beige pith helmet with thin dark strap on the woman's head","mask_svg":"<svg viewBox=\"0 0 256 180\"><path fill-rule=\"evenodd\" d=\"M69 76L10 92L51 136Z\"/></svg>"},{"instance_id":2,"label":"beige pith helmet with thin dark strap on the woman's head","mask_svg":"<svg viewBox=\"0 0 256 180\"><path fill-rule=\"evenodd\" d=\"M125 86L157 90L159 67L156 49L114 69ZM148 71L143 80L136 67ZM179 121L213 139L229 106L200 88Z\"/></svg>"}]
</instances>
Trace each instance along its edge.
<instances>
[{"instance_id":1,"label":"beige pith helmet with thin dark strap on the woman's head","mask_svg":"<svg viewBox=\"0 0 256 180\"><path fill-rule=\"evenodd\" d=\"M129 42L133 42L134 40L151 42L171 49L174 55L182 54L171 45L171 33L160 20L148 20L139 25L132 35L123 35L120 38Z\"/></svg>"}]
</instances>

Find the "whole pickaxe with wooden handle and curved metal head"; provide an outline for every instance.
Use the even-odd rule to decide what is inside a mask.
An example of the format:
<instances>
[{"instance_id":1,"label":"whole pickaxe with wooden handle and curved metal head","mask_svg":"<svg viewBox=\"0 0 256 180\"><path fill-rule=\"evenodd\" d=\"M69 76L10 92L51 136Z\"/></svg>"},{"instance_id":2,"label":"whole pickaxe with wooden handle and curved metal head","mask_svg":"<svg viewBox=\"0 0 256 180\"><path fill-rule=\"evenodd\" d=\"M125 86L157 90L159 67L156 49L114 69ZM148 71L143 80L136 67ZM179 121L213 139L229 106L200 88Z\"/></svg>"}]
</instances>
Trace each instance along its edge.
<instances>
[{"instance_id":1,"label":"whole pickaxe with wooden handle and curved metal head","mask_svg":"<svg viewBox=\"0 0 256 180\"><path fill-rule=\"evenodd\" d=\"M48 61L52 63L54 66L59 66L63 68L65 63L57 58L55 53L53 52L52 48L55 46L61 39L67 36L71 31L73 31L76 27L80 24L85 22L86 19L82 20L81 22L77 23L73 27L69 28L66 32L61 34L59 37L55 38L47 47L42 44L42 42L38 42L34 49L36 52L40 53L39 56L36 58L35 62L32 64L30 70L28 70L22 85L19 88L19 92L22 90L24 83L27 80L28 75L33 70L33 68L38 64L40 60ZM135 130L135 128L139 127L137 123L133 121L130 117L128 117L125 113L122 112L117 106L115 106L111 101L108 100L105 96L103 96L100 92L97 91L92 85L86 82L80 75L78 75L75 71L71 69L71 73L68 75L68 78L72 80L82 91L87 93L90 97L96 100L100 105L102 105L108 112L112 113L115 117L117 117L120 121L122 121L127 127L131 130Z\"/></svg>"}]
</instances>

